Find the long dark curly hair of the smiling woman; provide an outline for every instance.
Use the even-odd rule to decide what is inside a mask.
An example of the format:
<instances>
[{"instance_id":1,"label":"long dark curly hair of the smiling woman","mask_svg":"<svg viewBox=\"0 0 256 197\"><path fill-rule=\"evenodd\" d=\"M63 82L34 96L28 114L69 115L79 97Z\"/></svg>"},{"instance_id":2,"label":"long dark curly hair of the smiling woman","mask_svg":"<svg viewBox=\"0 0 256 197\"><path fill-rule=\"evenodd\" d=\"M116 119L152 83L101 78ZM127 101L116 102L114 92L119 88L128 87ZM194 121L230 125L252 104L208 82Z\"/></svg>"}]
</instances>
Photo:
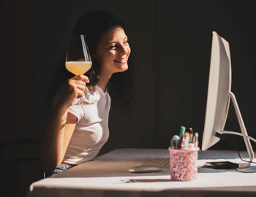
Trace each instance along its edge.
<instances>
[{"instance_id":1,"label":"long dark curly hair of the smiling woman","mask_svg":"<svg viewBox=\"0 0 256 197\"><path fill-rule=\"evenodd\" d=\"M113 13L105 10L93 10L82 15L73 28L72 37L78 36L79 34L86 35L86 42L89 46L92 60L91 69L86 72L86 76L88 76L90 80L87 86L91 89L94 89L94 86L97 85L99 80L99 63L97 63L97 59L94 59L97 44L110 28L116 26L120 26L124 29L124 23L113 15ZM129 69L125 72L112 74L107 85L112 104L118 106L118 109L127 113L131 112L135 107L135 99L133 97L134 89L132 84L132 62L130 61L130 58L128 61ZM53 92L56 92L56 90L59 89L61 83L63 84L65 80L73 77L66 69L63 69L63 63L61 64L58 72L56 72L58 76L54 77L55 81L53 84L55 86L51 87Z\"/></svg>"}]
</instances>

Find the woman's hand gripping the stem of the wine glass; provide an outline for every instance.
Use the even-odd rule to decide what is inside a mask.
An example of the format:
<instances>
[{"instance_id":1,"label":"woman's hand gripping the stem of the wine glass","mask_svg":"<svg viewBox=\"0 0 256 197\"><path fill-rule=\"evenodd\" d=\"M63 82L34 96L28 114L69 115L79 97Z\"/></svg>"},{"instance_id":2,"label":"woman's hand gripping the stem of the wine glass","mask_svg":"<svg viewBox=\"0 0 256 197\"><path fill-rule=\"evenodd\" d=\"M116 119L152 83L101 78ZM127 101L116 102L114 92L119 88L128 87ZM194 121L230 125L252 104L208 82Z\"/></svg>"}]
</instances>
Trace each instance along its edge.
<instances>
[{"instance_id":1,"label":"woman's hand gripping the stem of the wine glass","mask_svg":"<svg viewBox=\"0 0 256 197\"><path fill-rule=\"evenodd\" d=\"M74 104L75 99L80 98L86 91L86 83L89 83L89 78L85 75L77 75L67 81L67 84L61 90L61 98L59 102L65 107L70 107Z\"/></svg>"}]
</instances>

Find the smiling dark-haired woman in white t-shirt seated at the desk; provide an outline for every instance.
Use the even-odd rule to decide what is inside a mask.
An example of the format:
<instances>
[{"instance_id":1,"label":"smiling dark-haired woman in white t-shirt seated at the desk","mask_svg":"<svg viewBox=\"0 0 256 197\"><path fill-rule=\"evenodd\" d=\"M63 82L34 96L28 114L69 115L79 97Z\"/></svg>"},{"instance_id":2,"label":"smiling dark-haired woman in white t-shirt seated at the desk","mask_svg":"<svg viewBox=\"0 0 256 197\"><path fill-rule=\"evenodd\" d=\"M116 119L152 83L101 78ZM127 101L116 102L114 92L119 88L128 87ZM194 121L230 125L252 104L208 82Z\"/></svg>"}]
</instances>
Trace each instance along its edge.
<instances>
[{"instance_id":1,"label":"smiling dark-haired woman in white t-shirt seated at the desk","mask_svg":"<svg viewBox=\"0 0 256 197\"><path fill-rule=\"evenodd\" d=\"M87 76L70 78L55 96L56 104L41 142L42 169L53 174L97 155L109 135L109 93L114 100L122 96L121 90L130 93L128 88L118 88L119 73L128 69L130 54L121 20L109 12L92 11L76 23L74 36L79 34L86 35L93 66ZM87 104L76 104L82 96ZM127 98L131 97L123 96L123 100Z\"/></svg>"}]
</instances>

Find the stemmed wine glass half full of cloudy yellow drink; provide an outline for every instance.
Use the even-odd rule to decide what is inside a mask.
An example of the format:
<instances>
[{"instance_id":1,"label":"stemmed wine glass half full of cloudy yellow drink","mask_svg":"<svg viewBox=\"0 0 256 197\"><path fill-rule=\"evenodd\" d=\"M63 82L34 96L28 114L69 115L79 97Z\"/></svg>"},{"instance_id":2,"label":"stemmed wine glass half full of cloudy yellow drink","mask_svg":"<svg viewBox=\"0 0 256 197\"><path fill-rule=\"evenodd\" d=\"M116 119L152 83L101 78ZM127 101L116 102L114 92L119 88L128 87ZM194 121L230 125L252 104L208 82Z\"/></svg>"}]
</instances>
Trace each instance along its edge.
<instances>
[{"instance_id":1,"label":"stemmed wine glass half full of cloudy yellow drink","mask_svg":"<svg viewBox=\"0 0 256 197\"><path fill-rule=\"evenodd\" d=\"M85 35L80 34L69 40L65 62L66 69L72 74L79 75L88 72L91 69L91 65L91 55ZM84 102L85 100L82 97L78 104L83 104Z\"/></svg>"}]
</instances>

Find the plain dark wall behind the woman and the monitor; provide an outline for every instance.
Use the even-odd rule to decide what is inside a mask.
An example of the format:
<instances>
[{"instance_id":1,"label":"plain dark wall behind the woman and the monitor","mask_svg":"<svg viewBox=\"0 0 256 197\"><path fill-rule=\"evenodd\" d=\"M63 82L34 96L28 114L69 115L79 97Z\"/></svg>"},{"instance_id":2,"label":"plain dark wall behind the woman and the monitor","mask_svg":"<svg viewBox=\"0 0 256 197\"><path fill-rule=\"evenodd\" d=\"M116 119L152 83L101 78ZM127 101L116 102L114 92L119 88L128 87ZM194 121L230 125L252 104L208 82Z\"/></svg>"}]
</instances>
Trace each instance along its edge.
<instances>
[{"instance_id":1,"label":"plain dark wall behind the woman and the monitor","mask_svg":"<svg viewBox=\"0 0 256 197\"><path fill-rule=\"evenodd\" d=\"M137 100L129 117L111 108L110 139L100 154L123 147L167 148L181 125L194 128L201 141L212 31L230 43L232 90L247 132L255 138L252 2L1 1L0 141L41 137L48 86L63 61L65 39L79 16L91 9L108 9L124 20ZM240 132L232 104L225 129ZM232 139L246 150L241 137ZM256 150L254 142L252 146ZM234 147L221 141L211 149Z\"/></svg>"}]
</instances>

